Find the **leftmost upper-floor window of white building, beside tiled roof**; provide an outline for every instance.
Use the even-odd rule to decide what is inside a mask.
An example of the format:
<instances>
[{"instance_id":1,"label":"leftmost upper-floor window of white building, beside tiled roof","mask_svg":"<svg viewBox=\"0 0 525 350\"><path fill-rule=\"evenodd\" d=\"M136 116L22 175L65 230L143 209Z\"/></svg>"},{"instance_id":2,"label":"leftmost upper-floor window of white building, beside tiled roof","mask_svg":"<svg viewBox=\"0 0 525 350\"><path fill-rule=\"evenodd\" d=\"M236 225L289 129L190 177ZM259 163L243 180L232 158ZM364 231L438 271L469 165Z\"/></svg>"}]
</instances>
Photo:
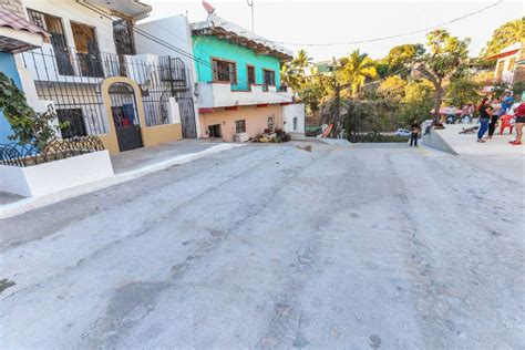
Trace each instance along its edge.
<instances>
[{"instance_id":1,"label":"leftmost upper-floor window of white building, beside tiled roof","mask_svg":"<svg viewBox=\"0 0 525 350\"><path fill-rule=\"evenodd\" d=\"M73 65L71 64L62 19L30 9L28 9L28 17L31 23L51 34L51 44L53 45L59 73L62 75L73 75Z\"/></svg>"}]
</instances>

